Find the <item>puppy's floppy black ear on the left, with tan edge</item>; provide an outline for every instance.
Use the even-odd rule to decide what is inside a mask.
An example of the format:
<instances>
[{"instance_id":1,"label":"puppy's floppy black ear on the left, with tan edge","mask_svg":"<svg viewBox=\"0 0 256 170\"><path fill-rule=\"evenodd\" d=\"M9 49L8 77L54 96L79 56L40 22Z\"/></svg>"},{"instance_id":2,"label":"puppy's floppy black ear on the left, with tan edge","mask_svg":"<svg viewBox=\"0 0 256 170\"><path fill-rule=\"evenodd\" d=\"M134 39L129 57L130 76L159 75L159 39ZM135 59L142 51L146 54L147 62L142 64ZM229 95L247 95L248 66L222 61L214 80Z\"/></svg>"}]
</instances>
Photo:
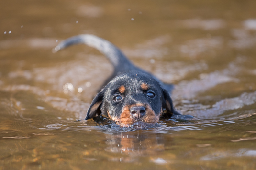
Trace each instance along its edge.
<instances>
[{"instance_id":1,"label":"puppy's floppy black ear on the left, with tan edge","mask_svg":"<svg viewBox=\"0 0 256 170\"><path fill-rule=\"evenodd\" d=\"M100 115L101 113L100 108L102 105L102 101L104 99L105 91L106 91L105 88L102 89L92 100L84 120L88 120L90 118Z\"/></svg>"}]
</instances>

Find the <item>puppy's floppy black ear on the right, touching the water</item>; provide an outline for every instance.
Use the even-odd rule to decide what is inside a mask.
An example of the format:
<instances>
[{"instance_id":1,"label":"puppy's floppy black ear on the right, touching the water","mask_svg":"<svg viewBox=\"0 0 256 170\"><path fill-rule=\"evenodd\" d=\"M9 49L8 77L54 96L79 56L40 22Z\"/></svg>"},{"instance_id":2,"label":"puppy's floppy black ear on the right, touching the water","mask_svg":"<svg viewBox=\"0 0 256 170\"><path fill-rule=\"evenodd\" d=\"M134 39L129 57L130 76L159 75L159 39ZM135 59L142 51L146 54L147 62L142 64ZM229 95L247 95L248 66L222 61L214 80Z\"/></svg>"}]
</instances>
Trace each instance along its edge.
<instances>
[{"instance_id":1,"label":"puppy's floppy black ear on the right, touching the water","mask_svg":"<svg viewBox=\"0 0 256 170\"><path fill-rule=\"evenodd\" d=\"M168 93L167 90L165 89L162 89L162 92L163 92L163 99L162 99L162 109L164 111L164 115L166 115L167 117L171 117L173 114L178 114L180 115L180 113L178 113L175 109L174 109L174 106L173 106L173 103L172 103L172 99L170 97L170 94Z\"/></svg>"}]
</instances>

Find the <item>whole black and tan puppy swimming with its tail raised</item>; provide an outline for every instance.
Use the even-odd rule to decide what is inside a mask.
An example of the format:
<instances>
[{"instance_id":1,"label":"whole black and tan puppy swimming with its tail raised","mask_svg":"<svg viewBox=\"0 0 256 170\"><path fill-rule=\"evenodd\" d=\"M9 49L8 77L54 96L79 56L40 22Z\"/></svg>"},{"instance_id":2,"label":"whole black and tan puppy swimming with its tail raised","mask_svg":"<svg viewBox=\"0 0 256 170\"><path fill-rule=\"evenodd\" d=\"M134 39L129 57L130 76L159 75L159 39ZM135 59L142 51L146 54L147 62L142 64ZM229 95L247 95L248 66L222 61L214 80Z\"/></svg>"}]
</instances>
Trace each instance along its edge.
<instances>
[{"instance_id":1,"label":"whole black and tan puppy swimming with its tail raised","mask_svg":"<svg viewBox=\"0 0 256 170\"><path fill-rule=\"evenodd\" d=\"M172 85L134 66L111 42L84 34L62 41L53 51L78 43L96 48L114 66L112 76L92 100L85 120L102 113L118 124L129 126L137 122L156 123L161 116L180 115L168 93Z\"/></svg>"}]
</instances>

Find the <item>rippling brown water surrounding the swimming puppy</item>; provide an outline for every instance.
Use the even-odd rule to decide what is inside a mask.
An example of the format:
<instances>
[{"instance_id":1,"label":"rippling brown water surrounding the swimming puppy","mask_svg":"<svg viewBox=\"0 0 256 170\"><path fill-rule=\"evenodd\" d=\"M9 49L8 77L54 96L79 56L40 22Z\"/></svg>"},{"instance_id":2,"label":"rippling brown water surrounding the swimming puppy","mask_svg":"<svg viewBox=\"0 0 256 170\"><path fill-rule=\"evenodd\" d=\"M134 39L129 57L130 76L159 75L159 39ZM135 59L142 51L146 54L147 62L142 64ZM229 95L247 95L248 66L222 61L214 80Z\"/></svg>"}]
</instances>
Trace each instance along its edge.
<instances>
[{"instance_id":1,"label":"rippling brown water surrounding the swimming puppy","mask_svg":"<svg viewBox=\"0 0 256 170\"><path fill-rule=\"evenodd\" d=\"M0 170L256 169L255 0L0 4ZM177 110L198 120L75 121L112 70L83 45L51 52L82 33L174 83Z\"/></svg>"}]
</instances>

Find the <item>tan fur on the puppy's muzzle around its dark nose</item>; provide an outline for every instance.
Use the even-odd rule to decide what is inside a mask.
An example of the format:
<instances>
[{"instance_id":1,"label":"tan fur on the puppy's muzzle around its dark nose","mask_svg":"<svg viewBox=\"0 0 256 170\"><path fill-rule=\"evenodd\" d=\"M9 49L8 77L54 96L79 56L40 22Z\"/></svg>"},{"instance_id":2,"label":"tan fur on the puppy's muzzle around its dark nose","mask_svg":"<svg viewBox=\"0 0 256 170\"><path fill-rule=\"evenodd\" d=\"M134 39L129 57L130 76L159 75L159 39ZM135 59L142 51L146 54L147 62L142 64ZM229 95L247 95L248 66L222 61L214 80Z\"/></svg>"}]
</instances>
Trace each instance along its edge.
<instances>
[{"instance_id":1,"label":"tan fur on the puppy's muzzle around its dark nose","mask_svg":"<svg viewBox=\"0 0 256 170\"><path fill-rule=\"evenodd\" d=\"M144 106L145 107L145 110L146 110L145 115L141 118L140 121L143 121L145 123L157 123L159 121L160 113L155 114L154 110L152 110L152 108L149 104L141 104L141 103L125 106L122 109L122 113L120 115L120 118L112 118L112 119L115 120L115 121L120 122L122 125L134 124L138 120L135 119L130 114L130 108L133 107L133 106Z\"/></svg>"}]
</instances>

